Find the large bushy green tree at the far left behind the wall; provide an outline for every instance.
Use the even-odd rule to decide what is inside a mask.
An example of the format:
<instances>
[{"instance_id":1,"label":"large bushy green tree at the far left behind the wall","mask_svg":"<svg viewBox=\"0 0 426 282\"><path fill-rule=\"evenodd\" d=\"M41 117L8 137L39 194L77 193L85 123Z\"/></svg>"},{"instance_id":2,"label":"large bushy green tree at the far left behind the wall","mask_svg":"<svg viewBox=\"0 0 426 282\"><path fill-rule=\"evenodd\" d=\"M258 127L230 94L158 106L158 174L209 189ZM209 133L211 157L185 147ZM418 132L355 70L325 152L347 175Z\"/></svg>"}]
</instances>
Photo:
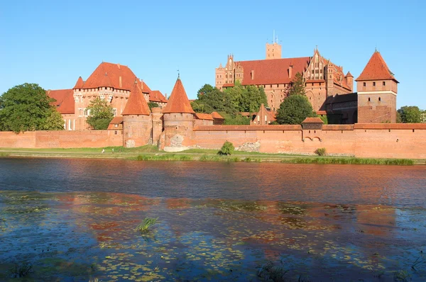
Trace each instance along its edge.
<instances>
[{"instance_id":1,"label":"large bushy green tree at the far left behind the wall","mask_svg":"<svg viewBox=\"0 0 426 282\"><path fill-rule=\"evenodd\" d=\"M0 97L0 130L16 133L43 130L48 118L56 111L53 101L55 99L50 98L38 84L25 83L12 87ZM63 128L63 120L61 125Z\"/></svg>"}]
</instances>

